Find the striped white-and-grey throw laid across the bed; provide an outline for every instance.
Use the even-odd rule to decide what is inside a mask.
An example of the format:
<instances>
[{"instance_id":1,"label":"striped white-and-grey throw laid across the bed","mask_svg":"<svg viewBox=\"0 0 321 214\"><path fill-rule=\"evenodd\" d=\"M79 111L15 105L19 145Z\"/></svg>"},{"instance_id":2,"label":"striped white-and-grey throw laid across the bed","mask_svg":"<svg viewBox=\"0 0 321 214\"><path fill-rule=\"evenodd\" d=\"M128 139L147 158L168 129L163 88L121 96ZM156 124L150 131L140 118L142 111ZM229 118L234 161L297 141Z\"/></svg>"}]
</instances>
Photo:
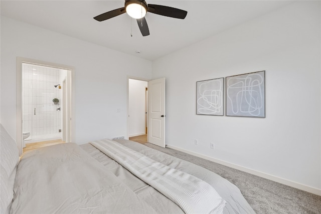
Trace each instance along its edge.
<instances>
[{"instance_id":1,"label":"striped white-and-grey throw laid across the bed","mask_svg":"<svg viewBox=\"0 0 321 214\"><path fill-rule=\"evenodd\" d=\"M226 201L207 182L112 140L90 144L174 201L185 213L223 212Z\"/></svg>"}]
</instances>

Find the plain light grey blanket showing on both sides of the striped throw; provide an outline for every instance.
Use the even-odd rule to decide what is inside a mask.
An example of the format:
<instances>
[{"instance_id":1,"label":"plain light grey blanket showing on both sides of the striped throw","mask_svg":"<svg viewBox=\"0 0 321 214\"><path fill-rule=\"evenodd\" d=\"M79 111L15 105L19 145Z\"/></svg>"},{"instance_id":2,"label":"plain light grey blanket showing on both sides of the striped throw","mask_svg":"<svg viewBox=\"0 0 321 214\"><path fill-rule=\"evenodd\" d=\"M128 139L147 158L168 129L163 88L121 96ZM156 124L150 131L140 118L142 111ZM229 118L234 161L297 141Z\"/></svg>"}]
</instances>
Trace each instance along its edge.
<instances>
[{"instance_id":1,"label":"plain light grey blanket showing on both sides of the striped throw","mask_svg":"<svg viewBox=\"0 0 321 214\"><path fill-rule=\"evenodd\" d=\"M223 213L255 213L240 190L231 182L218 174L191 162L173 157L163 152L129 140L117 139L118 143L133 149L154 161L161 162L171 168L186 172L206 181L214 187L218 194L226 201ZM138 198L145 201L157 213L184 213L175 202L133 175L115 160L105 155L91 144L80 145L90 156L104 165L106 170L113 173L119 181L128 186Z\"/></svg>"}]
</instances>

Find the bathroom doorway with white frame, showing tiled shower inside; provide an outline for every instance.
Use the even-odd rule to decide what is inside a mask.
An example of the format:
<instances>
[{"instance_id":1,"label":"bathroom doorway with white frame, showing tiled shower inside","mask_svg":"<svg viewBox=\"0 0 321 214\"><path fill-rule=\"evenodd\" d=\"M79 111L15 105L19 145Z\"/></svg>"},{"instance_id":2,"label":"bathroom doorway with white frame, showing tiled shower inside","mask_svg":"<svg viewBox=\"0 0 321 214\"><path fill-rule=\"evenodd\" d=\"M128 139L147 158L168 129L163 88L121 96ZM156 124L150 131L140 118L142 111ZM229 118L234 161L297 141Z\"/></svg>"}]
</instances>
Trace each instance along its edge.
<instances>
[{"instance_id":1,"label":"bathroom doorway with white frame, showing tiled shower inside","mask_svg":"<svg viewBox=\"0 0 321 214\"><path fill-rule=\"evenodd\" d=\"M21 153L24 143L72 141L73 77L72 67L17 58L17 124L21 124L17 125L17 144ZM27 138L26 133L30 133Z\"/></svg>"}]
</instances>

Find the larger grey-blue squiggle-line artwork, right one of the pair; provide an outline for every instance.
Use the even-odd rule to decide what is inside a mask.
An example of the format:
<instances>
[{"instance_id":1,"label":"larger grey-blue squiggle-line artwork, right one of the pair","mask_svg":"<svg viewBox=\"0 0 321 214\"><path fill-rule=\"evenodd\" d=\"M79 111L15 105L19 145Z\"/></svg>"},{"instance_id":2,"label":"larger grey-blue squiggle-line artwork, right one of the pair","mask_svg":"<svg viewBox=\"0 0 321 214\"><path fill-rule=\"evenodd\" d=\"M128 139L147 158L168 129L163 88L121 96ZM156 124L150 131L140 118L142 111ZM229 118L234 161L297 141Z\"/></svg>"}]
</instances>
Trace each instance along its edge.
<instances>
[{"instance_id":1,"label":"larger grey-blue squiggle-line artwork, right one of the pair","mask_svg":"<svg viewBox=\"0 0 321 214\"><path fill-rule=\"evenodd\" d=\"M264 116L264 79L260 74L227 80L227 99L232 112L242 116Z\"/></svg>"}]
</instances>

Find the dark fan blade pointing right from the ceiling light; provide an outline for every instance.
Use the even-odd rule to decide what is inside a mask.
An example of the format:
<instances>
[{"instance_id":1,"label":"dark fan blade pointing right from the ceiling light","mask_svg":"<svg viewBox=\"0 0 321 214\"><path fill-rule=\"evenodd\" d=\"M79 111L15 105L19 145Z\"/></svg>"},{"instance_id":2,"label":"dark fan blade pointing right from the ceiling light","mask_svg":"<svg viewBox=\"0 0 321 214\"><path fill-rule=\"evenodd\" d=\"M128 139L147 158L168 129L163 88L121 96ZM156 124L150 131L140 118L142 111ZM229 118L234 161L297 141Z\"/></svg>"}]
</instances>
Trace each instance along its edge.
<instances>
[{"instance_id":1,"label":"dark fan blade pointing right from the ceiling light","mask_svg":"<svg viewBox=\"0 0 321 214\"><path fill-rule=\"evenodd\" d=\"M148 4L148 12L153 14L158 14L166 17L172 17L177 19L185 19L187 15L187 11L183 11L177 8L171 8L162 5L149 5Z\"/></svg>"}]
</instances>

